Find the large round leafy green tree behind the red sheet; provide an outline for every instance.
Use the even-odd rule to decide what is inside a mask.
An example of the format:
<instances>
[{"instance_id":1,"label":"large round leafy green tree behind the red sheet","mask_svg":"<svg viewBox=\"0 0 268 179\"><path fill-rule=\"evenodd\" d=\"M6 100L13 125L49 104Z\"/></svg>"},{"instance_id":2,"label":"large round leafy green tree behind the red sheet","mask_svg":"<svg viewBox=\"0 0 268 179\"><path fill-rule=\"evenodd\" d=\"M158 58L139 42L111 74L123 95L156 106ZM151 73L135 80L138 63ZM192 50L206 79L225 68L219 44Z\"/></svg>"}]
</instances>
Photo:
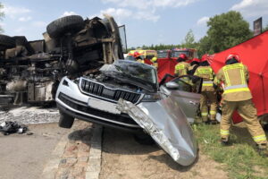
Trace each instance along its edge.
<instances>
[{"instance_id":1,"label":"large round leafy green tree behind the red sheet","mask_svg":"<svg viewBox=\"0 0 268 179\"><path fill-rule=\"evenodd\" d=\"M207 35L199 41L203 53L217 53L252 37L249 24L239 12L215 15L207 21Z\"/></svg>"}]
</instances>

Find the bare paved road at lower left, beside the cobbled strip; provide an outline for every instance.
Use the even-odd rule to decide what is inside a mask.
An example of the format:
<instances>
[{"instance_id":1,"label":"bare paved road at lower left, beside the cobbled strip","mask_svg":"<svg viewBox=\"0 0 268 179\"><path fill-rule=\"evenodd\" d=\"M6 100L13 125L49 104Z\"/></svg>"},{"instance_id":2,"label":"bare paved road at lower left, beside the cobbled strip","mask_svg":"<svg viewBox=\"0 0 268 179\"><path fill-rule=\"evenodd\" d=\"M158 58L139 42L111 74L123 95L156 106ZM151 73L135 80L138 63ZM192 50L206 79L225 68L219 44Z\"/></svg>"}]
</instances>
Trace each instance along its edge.
<instances>
[{"instance_id":1,"label":"bare paved road at lower left, beside the cobbled strip","mask_svg":"<svg viewBox=\"0 0 268 179\"><path fill-rule=\"evenodd\" d=\"M29 125L33 135L0 134L0 178L37 179L54 146L69 130L57 124Z\"/></svg>"}]
</instances>

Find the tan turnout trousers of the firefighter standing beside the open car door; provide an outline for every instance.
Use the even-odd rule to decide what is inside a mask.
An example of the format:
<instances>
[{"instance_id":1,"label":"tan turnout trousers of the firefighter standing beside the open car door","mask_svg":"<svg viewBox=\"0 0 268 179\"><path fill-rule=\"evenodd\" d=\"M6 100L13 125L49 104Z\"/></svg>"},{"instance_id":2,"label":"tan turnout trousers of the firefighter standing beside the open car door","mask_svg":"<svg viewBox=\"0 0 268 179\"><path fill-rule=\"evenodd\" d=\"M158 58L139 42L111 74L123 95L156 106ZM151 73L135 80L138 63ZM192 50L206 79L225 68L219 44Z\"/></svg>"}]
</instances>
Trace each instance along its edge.
<instances>
[{"instance_id":1,"label":"tan turnout trousers of the firefighter standing beside the open car door","mask_svg":"<svg viewBox=\"0 0 268 179\"><path fill-rule=\"evenodd\" d=\"M210 110L208 113L207 102L210 102ZM217 108L217 98L215 91L202 91L200 98L200 110L202 121L208 121L208 114L210 114L210 119L212 121L216 120L216 108Z\"/></svg>"}]
</instances>

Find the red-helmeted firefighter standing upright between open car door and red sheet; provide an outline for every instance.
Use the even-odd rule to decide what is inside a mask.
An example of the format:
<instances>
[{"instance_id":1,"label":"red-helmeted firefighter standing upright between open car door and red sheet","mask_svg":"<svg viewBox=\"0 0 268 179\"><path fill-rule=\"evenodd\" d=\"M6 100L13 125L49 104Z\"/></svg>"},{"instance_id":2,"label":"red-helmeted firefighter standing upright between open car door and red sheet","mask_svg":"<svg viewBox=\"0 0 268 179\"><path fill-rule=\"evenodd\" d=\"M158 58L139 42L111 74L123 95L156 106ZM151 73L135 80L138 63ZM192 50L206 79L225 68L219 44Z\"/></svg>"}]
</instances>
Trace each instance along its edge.
<instances>
[{"instance_id":1,"label":"red-helmeted firefighter standing upright between open car door and red sheet","mask_svg":"<svg viewBox=\"0 0 268 179\"><path fill-rule=\"evenodd\" d=\"M200 110L202 121L205 124L218 124L216 121L217 96L214 90L214 71L207 62L207 55L203 55L200 66L194 75L203 78L202 92L200 98ZM210 120L208 119L207 102L210 102Z\"/></svg>"}]
</instances>

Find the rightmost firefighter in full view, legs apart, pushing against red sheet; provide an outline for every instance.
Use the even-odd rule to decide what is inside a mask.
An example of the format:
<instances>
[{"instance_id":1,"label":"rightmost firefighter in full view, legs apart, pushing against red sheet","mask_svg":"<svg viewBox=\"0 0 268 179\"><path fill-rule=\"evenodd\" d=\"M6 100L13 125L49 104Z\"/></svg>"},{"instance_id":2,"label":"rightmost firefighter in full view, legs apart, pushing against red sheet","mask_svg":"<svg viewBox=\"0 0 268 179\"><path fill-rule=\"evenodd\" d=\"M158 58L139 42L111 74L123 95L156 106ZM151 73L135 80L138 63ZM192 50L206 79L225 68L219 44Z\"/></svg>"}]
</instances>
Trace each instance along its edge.
<instances>
[{"instance_id":1,"label":"rightmost firefighter in full view, legs apart, pushing against red sheet","mask_svg":"<svg viewBox=\"0 0 268 179\"><path fill-rule=\"evenodd\" d=\"M214 84L222 81L224 92L222 94L222 144L227 144L230 135L230 119L234 110L244 119L247 130L250 132L258 149L267 155L267 140L264 130L257 120L256 108L252 102L252 95L247 87L249 74L247 66L240 64L239 55L228 55L225 66L217 73Z\"/></svg>"}]
</instances>

